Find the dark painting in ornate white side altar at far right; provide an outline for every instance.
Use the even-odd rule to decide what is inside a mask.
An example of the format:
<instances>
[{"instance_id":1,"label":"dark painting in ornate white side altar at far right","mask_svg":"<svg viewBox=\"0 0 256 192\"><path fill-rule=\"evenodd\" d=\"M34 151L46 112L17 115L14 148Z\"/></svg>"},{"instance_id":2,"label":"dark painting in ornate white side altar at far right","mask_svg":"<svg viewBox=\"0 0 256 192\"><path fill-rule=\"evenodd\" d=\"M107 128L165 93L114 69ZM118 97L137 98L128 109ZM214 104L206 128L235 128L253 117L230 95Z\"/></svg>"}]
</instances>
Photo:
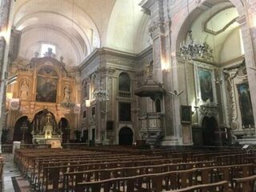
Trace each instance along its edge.
<instances>
[{"instance_id":1,"label":"dark painting in ornate white side altar at far right","mask_svg":"<svg viewBox=\"0 0 256 192\"><path fill-rule=\"evenodd\" d=\"M239 105L242 117L242 125L249 126L254 125L254 115L250 101L250 90L248 82L243 82L237 85Z\"/></svg>"}]
</instances>

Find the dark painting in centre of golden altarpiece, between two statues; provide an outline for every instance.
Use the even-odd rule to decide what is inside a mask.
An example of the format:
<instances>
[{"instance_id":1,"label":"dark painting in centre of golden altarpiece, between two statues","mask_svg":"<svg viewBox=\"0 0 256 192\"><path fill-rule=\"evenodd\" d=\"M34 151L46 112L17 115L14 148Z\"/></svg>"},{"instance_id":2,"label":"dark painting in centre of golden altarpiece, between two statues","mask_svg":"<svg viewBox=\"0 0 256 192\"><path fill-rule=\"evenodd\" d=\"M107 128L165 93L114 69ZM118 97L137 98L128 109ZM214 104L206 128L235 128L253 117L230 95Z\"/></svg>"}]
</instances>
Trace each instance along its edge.
<instances>
[{"instance_id":1,"label":"dark painting in centre of golden altarpiece, between two statues","mask_svg":"<svg viewBox=\"0 0 256 192\"><path fill-rule=\"evenodd\" d=\"M45 78L38 76L36 101L56 102L57 85L57 78Z\"/></svg>"}]
</instances>

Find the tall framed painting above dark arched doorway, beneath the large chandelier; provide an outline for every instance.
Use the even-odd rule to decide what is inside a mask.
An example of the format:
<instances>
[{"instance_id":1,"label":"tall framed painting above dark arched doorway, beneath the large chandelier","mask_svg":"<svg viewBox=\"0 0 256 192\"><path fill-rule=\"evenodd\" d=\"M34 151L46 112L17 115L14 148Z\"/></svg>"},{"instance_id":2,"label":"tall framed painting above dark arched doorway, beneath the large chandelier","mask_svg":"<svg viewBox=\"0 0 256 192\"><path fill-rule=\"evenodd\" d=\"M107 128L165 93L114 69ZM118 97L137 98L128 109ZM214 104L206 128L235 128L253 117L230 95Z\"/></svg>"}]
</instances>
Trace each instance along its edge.
<instances>
[{"instance_id":1,"label":"tall framed painting above dark arched doorway, beneath the large chandelier","mask_svg":"<svg viewBox=\"0 0 256 192\"><path fill-rule=\"evenodd\" d=\"M214 101L212 72L210 70L198 69L200 92L202 101Z\"/></svg>"}]
</instances>

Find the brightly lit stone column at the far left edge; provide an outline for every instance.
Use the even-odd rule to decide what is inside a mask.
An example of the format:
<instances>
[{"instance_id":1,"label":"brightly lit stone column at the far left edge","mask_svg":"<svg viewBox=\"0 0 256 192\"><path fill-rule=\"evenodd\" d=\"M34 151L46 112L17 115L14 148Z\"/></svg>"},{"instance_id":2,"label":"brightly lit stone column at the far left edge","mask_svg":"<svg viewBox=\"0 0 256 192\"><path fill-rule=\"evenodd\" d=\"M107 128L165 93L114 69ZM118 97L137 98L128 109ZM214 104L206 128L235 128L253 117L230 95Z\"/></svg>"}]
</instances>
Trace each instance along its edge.
<instances>
[{"instance_id":1,"label":"brightly lit stone column at the far left edge","mask_svg":"<svg viewBox=\"0 0 256 192\"><path fill-rule=\"evenodd\" d=\"M0 87L0 145L2 129L6 126L6 81L5 72L8 70L8 54L9 54L9 44L10 44L10 32L11 32L11 22L12 21L12 10L14 6L14 0L2 0L0 5L0 76L1 76L1 87ZM2 152L0 147L0 153Z\"/></svg>"}]
</instances>

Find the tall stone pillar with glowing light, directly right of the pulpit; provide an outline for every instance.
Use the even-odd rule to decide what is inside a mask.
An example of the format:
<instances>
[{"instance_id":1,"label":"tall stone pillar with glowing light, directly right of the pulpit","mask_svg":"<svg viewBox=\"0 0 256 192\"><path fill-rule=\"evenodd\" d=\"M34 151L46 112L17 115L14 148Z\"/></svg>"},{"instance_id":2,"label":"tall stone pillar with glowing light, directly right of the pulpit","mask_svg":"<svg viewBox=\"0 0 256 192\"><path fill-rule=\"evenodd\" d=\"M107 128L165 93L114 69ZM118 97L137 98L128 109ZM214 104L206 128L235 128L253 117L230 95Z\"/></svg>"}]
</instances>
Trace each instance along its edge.
<instances>
[{"instance_id":1,"label":"tall stone pillar with glowing light, directly right of the pulpit","mask_svg":"<svg viewBox=\"0 0 256 192\"><path fill-rule=\"evenodd\" d=\"M177 63L171 61L171 20L166 9L166 1L148 1L147 9L150 10L150 36L153 39L153 77L154 80L162 83L163 89L167 91L178 90ZM145 8L144 5L142 7ZM166 138L162 145L181 144L180 134L180 113L179 99L170 94L163 97L166 116Z\"/></svg>"}]
</instances>

